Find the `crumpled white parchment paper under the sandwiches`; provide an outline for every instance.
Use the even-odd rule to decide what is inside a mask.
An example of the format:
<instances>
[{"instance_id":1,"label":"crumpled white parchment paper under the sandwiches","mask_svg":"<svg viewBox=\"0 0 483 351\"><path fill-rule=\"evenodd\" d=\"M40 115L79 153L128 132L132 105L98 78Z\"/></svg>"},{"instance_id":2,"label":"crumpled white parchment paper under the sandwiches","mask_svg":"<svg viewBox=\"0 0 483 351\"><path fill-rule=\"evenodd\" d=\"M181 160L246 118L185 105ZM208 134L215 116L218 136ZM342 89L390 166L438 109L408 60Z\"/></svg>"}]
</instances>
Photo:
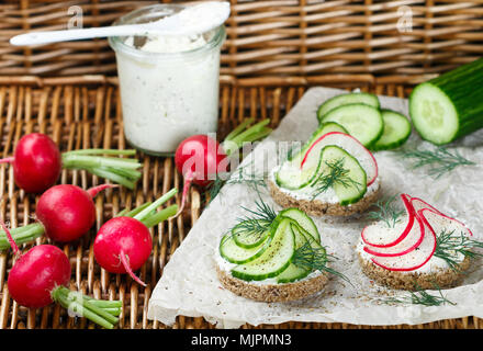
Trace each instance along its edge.
<instances>
[{"instance_id":1,"label":"crumpled white parchment paper under the sandwiches","mask_svg":"<svg viewBox=\"0 0 483 351\"><path fill-rule=\"evenodd\" d=\"M312 88L282 120L280 126L259 144L244 165L254 162L256 171L277 163L277 141L305 140L317 127L315 112L326 99L344 91ZM382 107L400 111L405 115L407 100L380 97ZM413 132L407 148L433 147ZM418 196L437 208L459 218L474 233L483 237L483 131L452 145L451 149L476 162L462 166L446 176L434 179L427 169L408 170L408 161L397 152L379 151L379 165L383 194L405 192ZM265 154L268 152L268 154ZM269 156L267 158L267 155ZM266 190L260 192L266 203L277 206ZM193 228L166 265L162 276L149 301L148 318L172 325L177 315L200 317L216 324L218 328L237 328L251 325L280 324L289 320L318 322L349 322L360 325L423 324L447 318L476 316L483 318L483 269L475 260L462 284L445 290L443 295L456 305L425 307L422 305L384 302L387 296L408 296L407 292L384 288L372 283L359 267L355 245L361 229L369 223L363 216L349 219L314 218L322 244L338 260L332 267L347 275L352 285L333 278L326 288L313 297L292 303L258 303L239 297L224 290L216 272L214 251L220 237L246 215L240 206L255 208L257 193L246 184L227 184L203 212ZM438 294L438 291L429 291Z\"/></svg>"}]
</instances>

